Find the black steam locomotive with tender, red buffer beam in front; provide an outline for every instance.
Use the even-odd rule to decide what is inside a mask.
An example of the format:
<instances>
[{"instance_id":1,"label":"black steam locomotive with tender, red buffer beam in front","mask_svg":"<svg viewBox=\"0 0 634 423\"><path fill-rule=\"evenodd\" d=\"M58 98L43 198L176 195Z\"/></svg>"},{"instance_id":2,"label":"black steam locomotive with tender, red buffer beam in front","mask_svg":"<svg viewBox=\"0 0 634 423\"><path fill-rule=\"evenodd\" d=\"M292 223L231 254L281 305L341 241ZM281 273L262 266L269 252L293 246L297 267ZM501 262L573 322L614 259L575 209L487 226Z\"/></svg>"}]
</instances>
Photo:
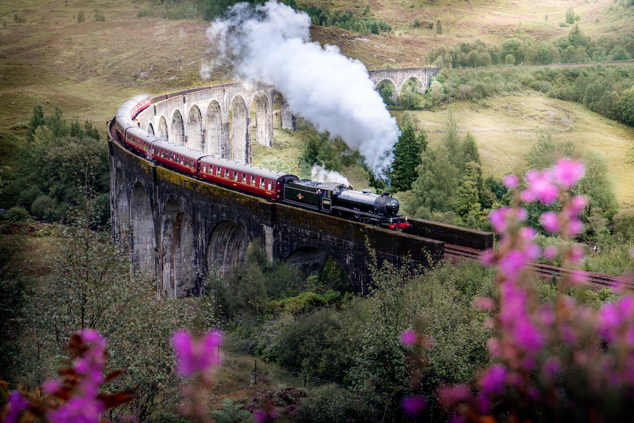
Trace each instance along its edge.
<instances>
[{"instance_id":1,"label":"black steam locomotive with tender, red buffer beam in front","mask_svg":"<svg viewBox=\"0 0 634 423\"><path fill-rule=\"evenodd\" d=\"M370 190L354 191L344 183L288 181L283 202L391 230L402 231L410 226L407 218L398 214L399 202L389 192L377 195Z\"/></svg>"}]
</instances>

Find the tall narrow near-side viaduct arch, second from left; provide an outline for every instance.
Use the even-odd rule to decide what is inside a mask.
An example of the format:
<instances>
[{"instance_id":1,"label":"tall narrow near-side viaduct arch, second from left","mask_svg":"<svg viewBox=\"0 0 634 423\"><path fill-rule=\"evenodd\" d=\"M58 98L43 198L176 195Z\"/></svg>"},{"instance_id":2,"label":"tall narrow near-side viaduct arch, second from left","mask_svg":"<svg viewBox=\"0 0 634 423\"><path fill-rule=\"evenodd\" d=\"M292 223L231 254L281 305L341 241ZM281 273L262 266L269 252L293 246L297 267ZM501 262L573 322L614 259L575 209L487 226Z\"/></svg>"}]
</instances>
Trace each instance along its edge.
<instances>
[{"instance_id":1,"label":"tall narrow near-side viaduct arch, second from left","mask_svg":"<svg viewBox=\"0 0 634 423\"><path fill-rule=\"evenodd\" d=\"M150 197L145 186L137 182L132 190L131 220L134 237L131 240L132 257L144 271L154 270L154 219Z\"/></svg>"}]
</instances>

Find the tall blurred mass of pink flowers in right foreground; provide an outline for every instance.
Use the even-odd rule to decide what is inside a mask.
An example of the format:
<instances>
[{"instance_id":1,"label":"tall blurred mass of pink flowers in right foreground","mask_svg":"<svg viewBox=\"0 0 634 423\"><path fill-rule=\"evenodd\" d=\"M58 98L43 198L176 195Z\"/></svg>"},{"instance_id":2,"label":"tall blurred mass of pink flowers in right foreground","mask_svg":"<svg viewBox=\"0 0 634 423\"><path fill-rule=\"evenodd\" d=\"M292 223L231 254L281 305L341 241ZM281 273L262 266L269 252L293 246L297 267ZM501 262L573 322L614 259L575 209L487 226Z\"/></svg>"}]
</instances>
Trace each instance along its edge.
<instances>
[{"instance_id":1,"label":"tall blurred mass of pink flowers in right foreground","mask_svg":"<svg viewBox=\"0 0 634 423\"><path fill-rule=\"evenodd\" d=\"M583 176L583 164L559 160L552 169L526 174L528 189L515 192L514 204L491 212L501 234L497 251L482 255L482 263L499 267L498 299L477 298L474 305L497 310L489 318L498 336L489 340L495 361L479 375L475 387L443 386L437 391L455 422L625 421L634 410L634 299L621 297L600 309L579 304L569 296L583 285L580 271L562 274L558 295L540 304L531 280L530 263L541 255L561 254L574 268L583 257L580 245L567 242L581 230L577 218L586 198L567 191ZM508 178L507 186L516 185ZM534 231L522 227L526 212L521 201L559 201L559 214L545 212L540 222L564 241L557 251L541 252ZM629 294L629 292L628 292ZM561 375L565 377L561 378Z\"/></svg>"}]
</instances>

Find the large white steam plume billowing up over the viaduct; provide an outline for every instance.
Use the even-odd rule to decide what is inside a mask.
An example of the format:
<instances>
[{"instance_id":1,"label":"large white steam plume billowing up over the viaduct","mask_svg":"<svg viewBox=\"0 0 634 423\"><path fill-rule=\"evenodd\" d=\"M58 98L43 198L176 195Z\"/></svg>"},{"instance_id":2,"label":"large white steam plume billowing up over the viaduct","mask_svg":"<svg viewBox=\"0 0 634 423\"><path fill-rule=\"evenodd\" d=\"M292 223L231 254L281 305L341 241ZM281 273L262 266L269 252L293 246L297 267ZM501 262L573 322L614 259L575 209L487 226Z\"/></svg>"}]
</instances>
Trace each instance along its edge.
<instances>
[{"instance_id":1,"label":"large white steam plume billowing up over the viaduct","mask_svg":"<svg viewBox=\"0 0 634 423\"><path fill-rule=\"evenodd\" d=\"M269 0L252 8L235 4L226 18L207 29L224 62L240 77L275 86L290 110L318 131L340 136L359 149L366 164L383 177L394 157L400 131L359 60L339 47L310 41L309 16ZM209 67L202 70L208 73Z\"/></svg>"}]
</instances>

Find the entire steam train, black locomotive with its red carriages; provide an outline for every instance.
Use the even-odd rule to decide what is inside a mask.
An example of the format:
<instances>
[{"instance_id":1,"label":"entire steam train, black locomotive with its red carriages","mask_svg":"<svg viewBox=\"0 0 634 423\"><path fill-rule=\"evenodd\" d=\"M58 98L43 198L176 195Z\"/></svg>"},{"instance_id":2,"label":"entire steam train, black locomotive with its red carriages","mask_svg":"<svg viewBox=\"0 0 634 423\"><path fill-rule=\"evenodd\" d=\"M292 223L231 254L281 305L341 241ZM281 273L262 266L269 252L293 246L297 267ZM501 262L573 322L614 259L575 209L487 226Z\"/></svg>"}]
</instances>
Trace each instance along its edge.
<instances>
[{"instance_id":1,"label":"entire steam train, black locomotive with its red carriages","mask_svg":"<svg viewBox=\"0 0 634 423\"><path fill-rule=\"evenodd\" d=\"M299 180L293 174L222 159L161 140L134 123L136 115L148 107L150 101L150 94L141 94L126 101L117 109L114 130L127 150L157 166L226 188L368 225L401 231L410 226L407 218L398 214L398 200L387 192L377 195L370 190L354 191L344 183Z\"/></svg>"}]
</instances>

